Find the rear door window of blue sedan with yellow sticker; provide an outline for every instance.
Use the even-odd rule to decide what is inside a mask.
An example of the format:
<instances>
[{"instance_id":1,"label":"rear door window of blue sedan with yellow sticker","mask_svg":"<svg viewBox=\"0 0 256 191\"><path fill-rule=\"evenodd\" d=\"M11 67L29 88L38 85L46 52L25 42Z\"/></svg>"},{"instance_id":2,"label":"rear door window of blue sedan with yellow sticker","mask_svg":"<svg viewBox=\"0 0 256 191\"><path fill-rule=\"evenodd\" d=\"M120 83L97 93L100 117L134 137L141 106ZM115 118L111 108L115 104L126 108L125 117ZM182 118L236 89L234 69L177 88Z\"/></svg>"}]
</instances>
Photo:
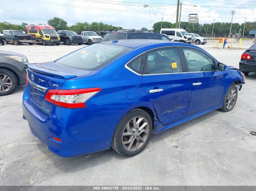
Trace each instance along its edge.
<instances>
[{"instance_id":1,"label":"rear door window of blue sedan with yellow sticker","mask_svg":"<svg viewBox=\"0 0 256 191\"><path fill-rule=\"evenodd\" d=\"M147 54L144 74L165 74L182 72L177 48L160 49Z\"/></svg>"}]
</instances>

